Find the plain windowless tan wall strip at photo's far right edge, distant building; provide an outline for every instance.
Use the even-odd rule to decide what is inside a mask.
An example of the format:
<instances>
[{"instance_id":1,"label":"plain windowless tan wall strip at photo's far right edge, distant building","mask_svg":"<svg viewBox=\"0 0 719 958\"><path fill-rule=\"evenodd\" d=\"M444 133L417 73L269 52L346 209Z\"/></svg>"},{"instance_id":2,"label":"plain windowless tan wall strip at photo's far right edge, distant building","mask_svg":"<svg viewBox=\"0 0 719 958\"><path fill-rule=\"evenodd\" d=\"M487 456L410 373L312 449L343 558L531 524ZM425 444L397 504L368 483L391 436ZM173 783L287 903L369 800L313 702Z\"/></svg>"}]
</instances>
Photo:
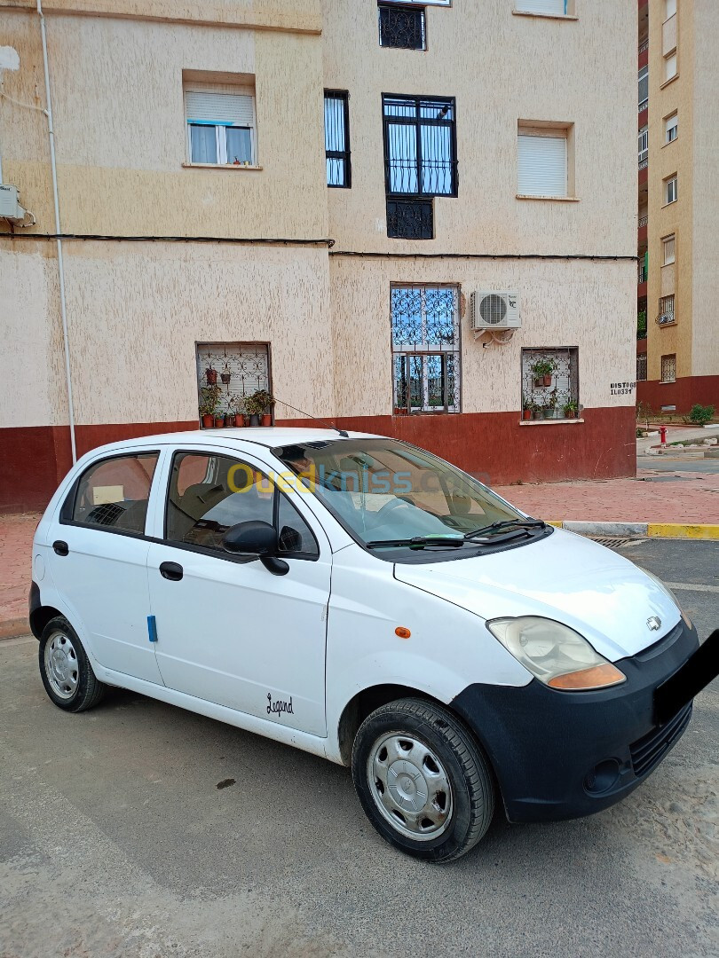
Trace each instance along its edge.
<instances>
[{"instance_id":1,"label":"plain windowless tan wall strip at photo's far right edge, distant building","mask_svg":"<svg viewBox=\"0 0 719 958\"><path fill-rule=\"evenodd\" d=\"M692 372L719 376L719 4L694 0Z\"/></svg>"}]
</instances>

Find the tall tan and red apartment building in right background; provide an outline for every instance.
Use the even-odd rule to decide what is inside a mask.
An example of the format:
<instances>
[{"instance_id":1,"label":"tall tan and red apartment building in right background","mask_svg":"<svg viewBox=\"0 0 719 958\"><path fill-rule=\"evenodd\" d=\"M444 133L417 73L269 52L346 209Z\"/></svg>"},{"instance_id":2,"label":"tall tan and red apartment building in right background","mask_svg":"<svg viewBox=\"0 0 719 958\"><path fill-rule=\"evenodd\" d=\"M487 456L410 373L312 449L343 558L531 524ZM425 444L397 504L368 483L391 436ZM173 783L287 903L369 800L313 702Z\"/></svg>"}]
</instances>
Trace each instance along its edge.
<instances>
[{"instance_id":1,"label":"tall tan and red apartment building in right background","mask_svg":"<svg viewBox=\"0 0 719 958\"><path fill-rule=\"evenodd\" d=\"M719 408L719 8L638 2L638 399Z\"/></svg>"}]
</instances>

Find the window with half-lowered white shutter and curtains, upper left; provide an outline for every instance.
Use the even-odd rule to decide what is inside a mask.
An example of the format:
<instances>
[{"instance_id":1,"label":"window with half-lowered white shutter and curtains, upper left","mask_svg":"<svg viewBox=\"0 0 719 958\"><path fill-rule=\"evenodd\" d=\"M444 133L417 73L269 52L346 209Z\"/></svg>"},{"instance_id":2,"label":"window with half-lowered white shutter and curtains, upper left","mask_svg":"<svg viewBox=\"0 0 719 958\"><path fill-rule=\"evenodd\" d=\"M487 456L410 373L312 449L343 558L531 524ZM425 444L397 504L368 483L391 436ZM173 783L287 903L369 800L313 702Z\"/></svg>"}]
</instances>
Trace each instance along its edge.
<instances>
[{"instance_id":1,"label":"window with half-lowered white shutter and curtains, upper left","mask_svg":"<svg viewBox=\"0 0 719 958\"><path fill-rule=\"evenodd\" d=\"M254 97L185 89L188 156L211 166L256 166Z\"/></svg>"}]
</instances>

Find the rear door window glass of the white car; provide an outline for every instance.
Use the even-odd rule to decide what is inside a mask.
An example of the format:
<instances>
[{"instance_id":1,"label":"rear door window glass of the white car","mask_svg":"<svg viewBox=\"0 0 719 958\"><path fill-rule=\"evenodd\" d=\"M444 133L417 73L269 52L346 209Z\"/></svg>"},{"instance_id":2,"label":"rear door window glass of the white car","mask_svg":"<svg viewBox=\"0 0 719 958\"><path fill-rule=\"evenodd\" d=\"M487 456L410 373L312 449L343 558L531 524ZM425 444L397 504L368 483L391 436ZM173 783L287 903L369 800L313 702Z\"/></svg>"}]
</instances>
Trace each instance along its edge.
<instances>
[{"instance_id":1,"label":"rear door window glass of the white car","mask_svg":"<svg viewBox=\"0 0 719 958\"><path fill-rule=\"evenodd\" d=\"M83 526L142 535L157 452L113 456L81 475L72 520Z\"/></svg>"}]
</instances>

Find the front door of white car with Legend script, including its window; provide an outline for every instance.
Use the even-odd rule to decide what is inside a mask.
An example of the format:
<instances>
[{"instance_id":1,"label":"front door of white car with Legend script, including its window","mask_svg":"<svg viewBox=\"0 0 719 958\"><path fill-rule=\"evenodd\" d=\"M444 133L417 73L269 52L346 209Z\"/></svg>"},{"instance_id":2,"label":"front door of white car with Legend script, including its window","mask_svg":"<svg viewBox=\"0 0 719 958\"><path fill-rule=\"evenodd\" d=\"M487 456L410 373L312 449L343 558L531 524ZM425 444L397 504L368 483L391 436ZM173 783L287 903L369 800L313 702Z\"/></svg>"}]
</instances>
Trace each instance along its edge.
<instances>
[{"instance_id":1,"label":"front door of white car with Legend script, including its window","mask_svg":"<svg viewBox=\"0 0 719 958\"><path fill-rule=\"evenodd\" d=\"M197 450L175 452L170 468L165 536L148 557L163 681L324 736L326 537L256 464ZM287 575L222 549L226 530L251 519L278 529Z\"/></svg>"}]
</instances>

